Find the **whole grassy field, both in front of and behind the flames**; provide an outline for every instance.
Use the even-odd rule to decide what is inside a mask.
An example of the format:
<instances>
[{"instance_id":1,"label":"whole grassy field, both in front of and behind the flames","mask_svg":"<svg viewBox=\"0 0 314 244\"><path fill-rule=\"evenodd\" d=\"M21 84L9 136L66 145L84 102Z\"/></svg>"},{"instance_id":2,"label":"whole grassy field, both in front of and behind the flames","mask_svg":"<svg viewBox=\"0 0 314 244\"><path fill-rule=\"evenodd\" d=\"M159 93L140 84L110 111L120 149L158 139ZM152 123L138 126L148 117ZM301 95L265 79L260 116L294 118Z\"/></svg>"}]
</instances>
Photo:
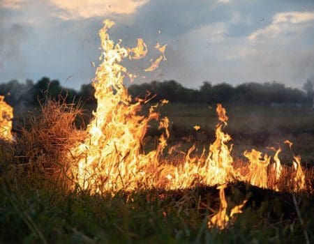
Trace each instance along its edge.
<instances>
[{"instance_id":1,"label":"whole grassy field, both in front of and behind the flames","mask_svg":"<svg viewBox=\"0 0 314 244\"><path fill-rule=\"evenodd\" d=\"M266 147L281 146L282 162L291 165L292 153L283 144L289 139L294 143L292 152L301 155L307 167L313 165L311 109L225 107L229 116L225 130L232 135L235 157L243 158L243 151L251 148L273 155ZM170 146L180 143L184 149L196 141L197 146L207 147L213 142L218 121L214 108L179 104L161 107L161 115L171 121ZM89 117L90 111L84 113ZM52 125L54 128L58 124ZM200 130L196 131L194 125L200 125ZM49 126L43 126L45 131L52 128ZM154 136L158 135L154 124L148 135L154 142ZM50 136L53 135L47 138L53 138ZM223 230L209 229L207 217L219 208L216 188L120 191L100 196L76 185L68 191L64 178L56 180L46 174L49 167L32 165L30 170L31 162L14 155L13 151L36 151L40 146L32 140L36 141L36 137L17 142L18 146L6 142L0 146L1 243L310 243L314 240L314 199L310 192L274 192L234 183L225 190L227 203L232 207L248 199L243 213ZM31 143L33 148L29 146ZM46 152L37 153L36 157L40 158ZM21 162L24 162L22 171Z\"/></svg>"}]
</instances>

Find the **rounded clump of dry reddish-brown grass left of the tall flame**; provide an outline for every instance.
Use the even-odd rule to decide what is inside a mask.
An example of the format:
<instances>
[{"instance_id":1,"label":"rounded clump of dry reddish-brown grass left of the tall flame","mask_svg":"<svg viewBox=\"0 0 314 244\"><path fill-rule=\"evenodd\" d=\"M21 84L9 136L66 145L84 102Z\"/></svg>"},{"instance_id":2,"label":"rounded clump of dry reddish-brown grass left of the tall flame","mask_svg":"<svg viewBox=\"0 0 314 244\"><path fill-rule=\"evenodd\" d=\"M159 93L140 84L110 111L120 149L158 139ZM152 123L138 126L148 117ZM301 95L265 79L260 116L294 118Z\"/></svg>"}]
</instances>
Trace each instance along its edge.
<instances>
[{"instance_id":1,"label":"rounded clump of dry reddish-brown grass left of the tall flame","mask_svg":"<svg viewBox=\"0 0 314 244\"><path fill-rule=\"evenodd\" d=\"M14 161L24 177L64 178L68 176L69 150L84 138L84 131L75 128L75 119L82 109L65 102L47 100L38 110L29 112L13 143ZM38 177L36 177L38 178Z\"/></svg>"}]
</instances>

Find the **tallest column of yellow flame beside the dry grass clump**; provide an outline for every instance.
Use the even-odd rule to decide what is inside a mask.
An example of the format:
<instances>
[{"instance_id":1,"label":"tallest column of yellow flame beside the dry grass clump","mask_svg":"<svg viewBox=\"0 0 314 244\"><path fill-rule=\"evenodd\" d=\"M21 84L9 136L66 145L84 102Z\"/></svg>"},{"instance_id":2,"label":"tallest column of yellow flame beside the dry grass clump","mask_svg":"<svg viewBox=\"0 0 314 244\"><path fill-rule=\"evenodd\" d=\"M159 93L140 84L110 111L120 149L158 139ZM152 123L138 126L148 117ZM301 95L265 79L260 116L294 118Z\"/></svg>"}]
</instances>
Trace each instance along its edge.
<instances>
[{"instance_id":1,"label":"tallest column of yellow flame beside the dry grass clump","mask_svg":"<svg viewBox=\"0 0 314 244\"><path fill-rule=\"evenodd\" d=\"M109 39L107 30L113 25L114 22L105 20L99 32L103 53L93 81L98 101L94 120L88 125L87 139L72 151L79 159L77 182L94 192L134 190L141 185L151 185L153 178L149 168L156 167L158 154L169 137L166 132L155 151L142 153L149 121L158 119L158 114L154 112L155 107L151 107L149 116L140 116L143 101L131 102L123 85L127 70L120 64L128 56L128 50ZM167 118L160 121L160 128L167 131L167 123Z\"/></svg>"}]
</instances>

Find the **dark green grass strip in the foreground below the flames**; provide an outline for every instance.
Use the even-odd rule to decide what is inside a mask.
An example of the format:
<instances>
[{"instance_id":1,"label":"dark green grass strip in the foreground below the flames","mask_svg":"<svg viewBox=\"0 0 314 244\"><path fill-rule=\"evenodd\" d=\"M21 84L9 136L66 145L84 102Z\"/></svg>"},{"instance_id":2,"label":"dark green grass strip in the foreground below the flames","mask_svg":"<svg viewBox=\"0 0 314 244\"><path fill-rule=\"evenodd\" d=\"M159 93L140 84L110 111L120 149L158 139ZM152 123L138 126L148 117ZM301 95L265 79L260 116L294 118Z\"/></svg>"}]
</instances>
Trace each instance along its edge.
<instances>
[{"instance_id":1,"label":"dark green grass strip in the foreground below the flames","mask_svg":"<svg viewBox=\"0 0 314 244\"><path fill-rule=\"evenodd\" d=\"M207 228L210 209L218 209L212 188L100 197L13 185L1 183L1 243L305 243L304 230L314 237L313 199L305 195L297 197L302 225L292 195L232 186L226 192L231 206L249 202L219 231Z\"/></svg>"}]
</instances>

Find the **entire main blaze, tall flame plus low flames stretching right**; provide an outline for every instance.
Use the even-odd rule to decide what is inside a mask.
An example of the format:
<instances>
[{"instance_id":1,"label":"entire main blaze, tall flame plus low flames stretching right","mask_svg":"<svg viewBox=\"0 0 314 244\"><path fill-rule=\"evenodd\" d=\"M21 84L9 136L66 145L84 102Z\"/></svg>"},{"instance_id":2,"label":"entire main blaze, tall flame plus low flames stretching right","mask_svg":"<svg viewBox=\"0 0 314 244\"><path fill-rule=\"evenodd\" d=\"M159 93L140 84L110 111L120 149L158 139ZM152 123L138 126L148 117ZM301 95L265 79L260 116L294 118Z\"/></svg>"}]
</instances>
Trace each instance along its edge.
<instances>
[{"instance_id":1,"label":"entire main blaze, tall flame plus low flames stretching right","mask_svg":"<svg viewBox=\"0 0 314 244\"><path fill-rule=\"evenodd\" d=\"M279 160L281 148L276 151L274 160L269 155L252 149L245 151L249 164L235 168L232 158L232 137L223 130L227 126L228 116L222 105L218 104L218 124L216 139L208 148L197 153L195 144L188 149L185 157L175 162L166 160L167 139L170 137L167 117L159 119L156 107L152 105L147 116L140 115L142 104L146 101L132 100L124 86L124 77L129 76L121 61L141 59L147 54L147 45L142 38L137 39L137 47L124 48L110 40L107 33L114 22L105 20L100 29L102 54L100 65L96 69L96 77L92 85L98 106L94 119L87 127L84 142L78 142L71 150L76 163L73 165L75 180L80 188L93 193L130 191L147 188L163 188L177 190L191 188L196 185L218 186L220 190L220 211L209 219L209 227L215 225L220 229L227 226L235 213L241 213L243 204L235 206L227 215L225 185L234 181L245 181L260 188L280 190L282 166ZM161 53L151 67L145 71L155 70L160 61L165 60L165 47L160 44L156 48ZM152 120L159 121L159 129L163 130L154 150L144 151L144 137ZM199 125L194 126L199 130ZM169 153L178 148L172 146ZM177 149L176 149L177 150ZM271 167L275 172L276 183L269 183ZM306 190L305 176L301 169L301 159L294 158L294 190Z\"/></svg>"}]
</instances>

